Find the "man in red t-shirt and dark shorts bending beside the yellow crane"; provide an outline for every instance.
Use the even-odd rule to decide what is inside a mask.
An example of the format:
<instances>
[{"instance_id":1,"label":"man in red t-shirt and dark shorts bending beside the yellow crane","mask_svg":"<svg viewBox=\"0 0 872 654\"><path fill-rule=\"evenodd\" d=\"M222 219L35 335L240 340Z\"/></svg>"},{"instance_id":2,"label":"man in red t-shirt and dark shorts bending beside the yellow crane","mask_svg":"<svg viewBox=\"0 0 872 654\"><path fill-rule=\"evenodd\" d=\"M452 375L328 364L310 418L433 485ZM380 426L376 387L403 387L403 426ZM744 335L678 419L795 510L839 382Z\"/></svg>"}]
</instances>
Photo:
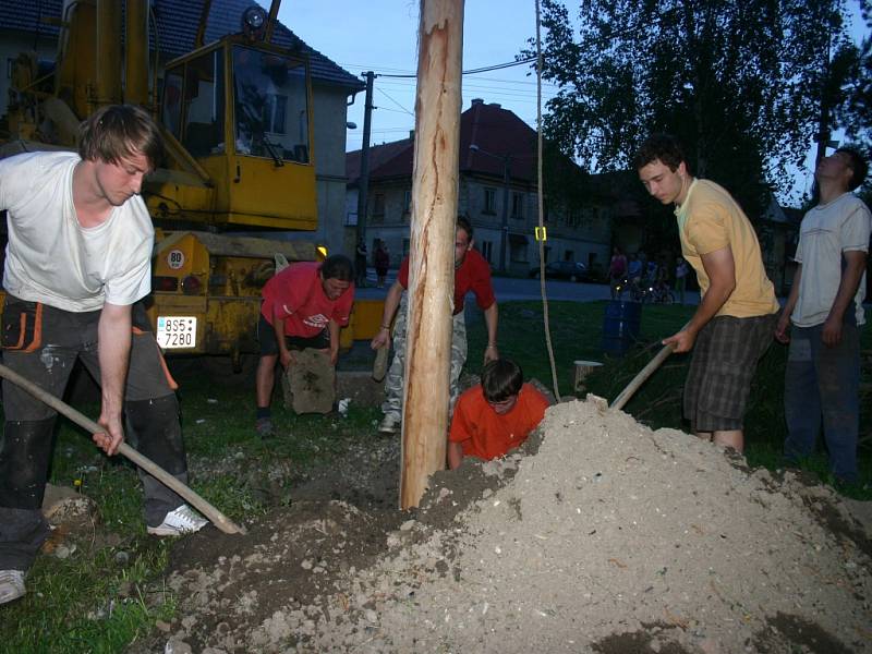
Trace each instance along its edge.
<instances>
[{"instance_id":1,"label":"man in red t-shirt and dark shorts bending beside the yellow crane","mask_svg":"<svg viewBox=\"0 0 872 654\"><path fill-rule=\"evenodd\" d=\"M354 269L341 254L324 263L292 264L264 286L257 338L257 433L272 435L269 401L276 382L276 362L287 368L291 350L329 350L330 363L339 356L339 329L348 325L354 302Z\"/></svg>"}]
</instances>

